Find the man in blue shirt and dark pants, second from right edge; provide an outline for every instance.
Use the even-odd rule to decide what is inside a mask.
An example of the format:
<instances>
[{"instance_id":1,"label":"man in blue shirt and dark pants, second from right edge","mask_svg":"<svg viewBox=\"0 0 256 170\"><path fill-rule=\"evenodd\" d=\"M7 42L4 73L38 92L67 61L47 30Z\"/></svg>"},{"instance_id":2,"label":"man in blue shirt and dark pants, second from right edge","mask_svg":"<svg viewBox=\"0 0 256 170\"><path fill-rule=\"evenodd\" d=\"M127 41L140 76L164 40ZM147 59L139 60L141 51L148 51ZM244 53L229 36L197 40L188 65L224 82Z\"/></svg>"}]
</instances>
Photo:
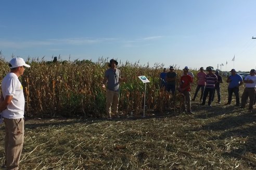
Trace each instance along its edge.
<instances>
[{"instance_id":1,"label":"man in blue shirt and dark pants, second from right edge","mask_svg":"<svg viewBox=\"0 0 256 170\"><path fill-rule=\"evenodd\" d=\"M242 77L239 74L236 74L236 70L233 68L231 70L231 75L227 78L228 84L228 101L226 103L226 105L230 105L231 104L231 100L232 100L232 94L233 92L236 95L236 106L239 106L240 104L240 100L239 100L239 86L242 85Z\"/></svg>"}]
</instances>

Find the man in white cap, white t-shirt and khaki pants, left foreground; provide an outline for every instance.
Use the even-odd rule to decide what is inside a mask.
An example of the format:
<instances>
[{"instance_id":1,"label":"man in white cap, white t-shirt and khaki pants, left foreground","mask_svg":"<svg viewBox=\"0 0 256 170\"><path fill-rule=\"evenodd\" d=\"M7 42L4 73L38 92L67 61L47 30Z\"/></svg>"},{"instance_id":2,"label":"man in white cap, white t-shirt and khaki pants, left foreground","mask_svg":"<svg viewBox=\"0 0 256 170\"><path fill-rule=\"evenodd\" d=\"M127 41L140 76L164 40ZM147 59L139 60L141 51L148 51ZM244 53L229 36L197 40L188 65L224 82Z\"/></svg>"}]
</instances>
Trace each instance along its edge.
<instances>
[{"instance_id":1,"label":"man in white cap, white t-shirt and khaki pants, left foreground","mask_svg":"<svg viewBox=\"0 0 256 170\"><path fill-rule=\"evenodd\" d=\"M5 160L7 169L18 169L24 143L24 107L23 87L18 77L25 67L30 67L22 58L13 58L9 62L10 72L2 81L0 112L5 123Z\"/></svg>"}]
</instances>

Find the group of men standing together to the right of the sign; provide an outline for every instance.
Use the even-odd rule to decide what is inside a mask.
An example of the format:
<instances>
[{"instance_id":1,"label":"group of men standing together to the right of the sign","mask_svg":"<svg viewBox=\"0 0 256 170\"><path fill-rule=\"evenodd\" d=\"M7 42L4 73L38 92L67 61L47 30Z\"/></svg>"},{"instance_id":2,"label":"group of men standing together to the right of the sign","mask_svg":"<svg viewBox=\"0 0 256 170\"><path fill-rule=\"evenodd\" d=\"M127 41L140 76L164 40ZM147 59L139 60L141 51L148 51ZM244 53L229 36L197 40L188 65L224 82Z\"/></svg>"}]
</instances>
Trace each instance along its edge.
<instances>
[{"instance_id":1,"label":"group of men standing together to the right of the sign","mask_svg":"<svg viewBox=\"0 0 256 170\"><path fill-rule=\"evenodd\" d=\"M190 89L191 84L194 82L194 75L193 73L189 72L188 67L186 66L183 69L183 75L180 78L180 87L178 91L183 93L185 96L185 105L186 108L184 109L185 112L188 114L193 114L191 111L191 102L195 101L199 90L201 89L200 95L200 102L201 105L206 104L207 97L208 99L208 106L211 106L215 92L217 93L217 103L221 104L221 86L220 83L223 83L223 78L220 75L218 70L213 73L213 67L206 68L207 73L204 72L203 67L200 68L200 71L197 73L197 87L192 100L190 100ZM174 72L173 66L170 67L170 72L167 72L167 69L164 68L163 72L160 74L160 88L165 88L168 92L175 92L175 82L176 82L177 74ZM228 102L225 105L230 105L232 101L232 95L235 93L236 96L236 106L240 105L240 98L239 98L239 86L246 83L245 91L241 97L241 108L245 108L245 105L248 101L248 97L250 99L249 103L249 111L252 112L253 105L256 101L256 70L251 69L250 75L246 76L245 80L236 73L235 69L231 70L231 75L226 80L228 84Z\"/></svg>"}]
</instances>

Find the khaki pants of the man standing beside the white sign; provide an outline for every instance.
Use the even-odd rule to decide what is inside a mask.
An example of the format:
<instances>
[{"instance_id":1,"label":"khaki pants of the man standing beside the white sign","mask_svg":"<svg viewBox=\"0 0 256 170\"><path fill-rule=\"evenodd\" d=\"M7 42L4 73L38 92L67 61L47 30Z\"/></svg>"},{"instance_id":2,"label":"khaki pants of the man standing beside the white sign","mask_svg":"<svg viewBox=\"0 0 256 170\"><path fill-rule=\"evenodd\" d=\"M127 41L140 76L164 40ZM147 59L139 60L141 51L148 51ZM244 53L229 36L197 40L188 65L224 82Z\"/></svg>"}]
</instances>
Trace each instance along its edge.
<instances>
[{"instance_id":1,"label":"khaki pants of the man standing beside the white sign","mask_svg":"<svg viewBox=\"0 0 256 170\"><path fill-rule=\"evenodd\" d=\"M111 105L113 103L113 114L117 115L118 112L118 101L119 101L119 92L107 90L106 96L106 112L109 118L111 118Z\"/></svg>"}]
</instances>

